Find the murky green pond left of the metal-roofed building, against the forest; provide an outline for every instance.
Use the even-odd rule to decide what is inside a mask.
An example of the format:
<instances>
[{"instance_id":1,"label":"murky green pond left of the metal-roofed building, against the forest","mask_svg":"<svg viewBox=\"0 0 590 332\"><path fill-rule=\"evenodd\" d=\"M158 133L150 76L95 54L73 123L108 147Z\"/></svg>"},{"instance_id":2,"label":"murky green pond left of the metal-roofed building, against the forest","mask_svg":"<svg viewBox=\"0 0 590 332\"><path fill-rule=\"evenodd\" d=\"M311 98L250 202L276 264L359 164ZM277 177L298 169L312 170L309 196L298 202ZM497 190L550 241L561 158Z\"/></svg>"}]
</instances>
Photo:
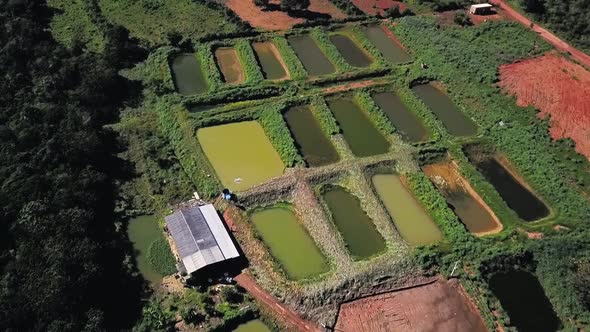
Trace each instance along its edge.
<instances>
[{"instance_id":1,"label":"murky green pond left of the metal-roofed building, against the forest","mask_svg":"<svg viewBox=\"0 0 590 332\"><path fill-rule=\"evenodd\" d=\"M162 237L162 230L156 218L145 215L131 219L127 227L127 236L133 244L137 269L143 278L151 284L160 283L163 276L152 267L147 257L150 244Z\"/></svg>"}]
</instances>

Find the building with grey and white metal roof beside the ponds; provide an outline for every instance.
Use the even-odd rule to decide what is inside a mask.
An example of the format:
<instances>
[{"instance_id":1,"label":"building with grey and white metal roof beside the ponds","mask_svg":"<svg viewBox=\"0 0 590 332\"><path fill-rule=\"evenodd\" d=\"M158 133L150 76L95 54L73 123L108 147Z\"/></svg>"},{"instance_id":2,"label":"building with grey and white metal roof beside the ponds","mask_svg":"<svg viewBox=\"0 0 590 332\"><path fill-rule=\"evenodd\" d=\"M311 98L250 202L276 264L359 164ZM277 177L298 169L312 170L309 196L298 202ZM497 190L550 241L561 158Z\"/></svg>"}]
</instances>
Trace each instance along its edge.
<instances>
[{"instance_id":1,"label":"building with grey and white metal roof beside the ponds","mask_svg":"<svg viewBox=\"0 0 590 332\"><path fill-rule=\"evenodd\" d=\"M184 208L166 217L187 273L240 256L212 204Z\"/></svg>"}]
</instances>

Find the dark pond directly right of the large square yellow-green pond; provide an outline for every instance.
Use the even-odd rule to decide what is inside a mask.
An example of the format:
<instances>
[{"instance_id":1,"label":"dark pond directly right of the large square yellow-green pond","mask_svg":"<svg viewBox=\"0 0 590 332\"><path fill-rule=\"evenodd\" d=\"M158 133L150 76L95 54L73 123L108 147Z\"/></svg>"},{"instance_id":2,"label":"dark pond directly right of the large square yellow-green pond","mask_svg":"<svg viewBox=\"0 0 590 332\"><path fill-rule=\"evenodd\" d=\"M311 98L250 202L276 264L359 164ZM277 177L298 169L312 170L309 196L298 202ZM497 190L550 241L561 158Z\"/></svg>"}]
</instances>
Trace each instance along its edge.
<instances>
[{"instance_id":1,"label":"dark pond directly right of the large square yellow-green pond","mask_svg":"<svg viewBox=\"0 0 590 332\"><path fill-rule=\"evenodd\" d=\"M324 135L308 107L298 106L289 109L285 113L285 120L299 152L309 166L328 165L338 161L336 149Z\"/></svg>"}]
</instances>

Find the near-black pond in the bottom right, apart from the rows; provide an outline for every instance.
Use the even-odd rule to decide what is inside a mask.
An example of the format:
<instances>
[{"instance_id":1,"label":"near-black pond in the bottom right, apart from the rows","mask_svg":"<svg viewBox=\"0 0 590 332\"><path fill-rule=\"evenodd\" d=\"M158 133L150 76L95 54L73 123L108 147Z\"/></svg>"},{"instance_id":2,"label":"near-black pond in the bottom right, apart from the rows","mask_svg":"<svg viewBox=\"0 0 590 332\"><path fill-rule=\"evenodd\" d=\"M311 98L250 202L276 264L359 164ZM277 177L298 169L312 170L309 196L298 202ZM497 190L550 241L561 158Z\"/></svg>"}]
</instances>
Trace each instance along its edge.
<instances>
[{"instance_id":1,"label":"near-black pond in the bottom right, apart from the rows","mask_svg":"<svg viewBox=\"0 0 590 332\"><path fill-rule=\"evenodd\" d=\"M543 287L529 272L497 273L489 284L518 331L554 332L561 327Z\"/></svg>"}]
</instances>

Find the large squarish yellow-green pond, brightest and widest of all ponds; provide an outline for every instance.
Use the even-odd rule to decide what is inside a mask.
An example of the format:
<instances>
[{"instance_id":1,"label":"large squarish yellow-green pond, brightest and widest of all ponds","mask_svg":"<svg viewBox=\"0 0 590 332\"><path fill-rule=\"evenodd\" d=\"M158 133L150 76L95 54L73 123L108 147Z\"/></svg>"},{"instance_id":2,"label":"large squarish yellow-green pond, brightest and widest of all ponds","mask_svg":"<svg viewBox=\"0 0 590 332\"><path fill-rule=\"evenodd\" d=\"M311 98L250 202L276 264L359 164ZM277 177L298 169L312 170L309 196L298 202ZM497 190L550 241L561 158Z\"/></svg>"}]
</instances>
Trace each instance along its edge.
<instances>
[{"instance_id":1,"label":"large squarish yellow-green pond, brightest and widest of all ponds","mask_svg":"<svg viewBox=\"0 0 590 332\"><path fill-rule=\"evenodd\" d=\"M197 139L221 183L233 191L280 176L285 169L256 121L201 128Z\"/></svg>"}]
</instances>

